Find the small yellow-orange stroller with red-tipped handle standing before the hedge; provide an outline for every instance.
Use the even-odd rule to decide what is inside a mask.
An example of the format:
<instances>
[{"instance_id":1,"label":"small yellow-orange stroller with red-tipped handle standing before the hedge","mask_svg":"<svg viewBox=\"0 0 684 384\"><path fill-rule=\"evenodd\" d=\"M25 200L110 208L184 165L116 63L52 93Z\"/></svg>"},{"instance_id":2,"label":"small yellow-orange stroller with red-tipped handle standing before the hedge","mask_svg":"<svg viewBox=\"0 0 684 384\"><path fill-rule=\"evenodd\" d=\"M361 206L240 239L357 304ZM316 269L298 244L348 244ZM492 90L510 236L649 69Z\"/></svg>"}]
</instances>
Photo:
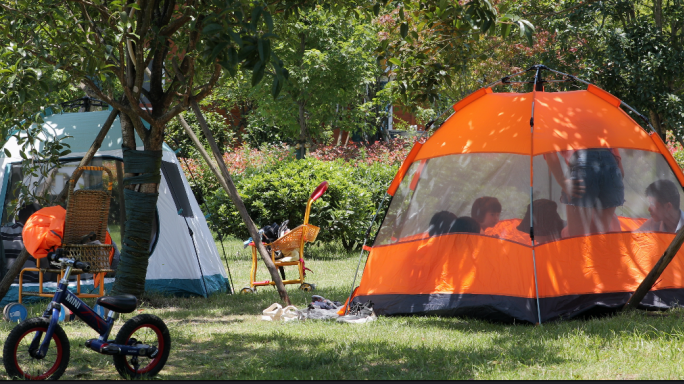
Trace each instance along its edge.
<instances>
[{"instance_id":1,"label":"small yellow-orange stroller with red-tipped handle standing before the hedge","mask_svg":"<svg viewBox=\"0 0 684 384\"><path fill-rule=\"evenodd\" d=\"M284 234L272 243L264 243L265 247L270 247L271 249L271 260L275 264L276 268L285 266L296 265L299 270L298 279L283 280L283 284L300 284L299 288L304 291L312 291L315 289L315 285L304 282L306 277L306 267L304 266L304 244L307 242L313 242L318 236L318 232L321 230L315 225L309 224L309 213L311 212L311 204L319 197L321 197L325 191L328 189L328 182L322 182L311 194L309 201L306 204L306 213L304 214L304 224L298 226L292 231ZM264 280L256 280L256 270L257 270L257 260L258 252L254 243L250 244L252 246L252 270L249 275L249 287L243 288L241 293L256 292L257 286L275 285L275 282ZM295 254L293 251L297 250L296 256L285 256L279 260L276 260L276 252L280 251L283 255Z\"/></svg>"}]
</instances>

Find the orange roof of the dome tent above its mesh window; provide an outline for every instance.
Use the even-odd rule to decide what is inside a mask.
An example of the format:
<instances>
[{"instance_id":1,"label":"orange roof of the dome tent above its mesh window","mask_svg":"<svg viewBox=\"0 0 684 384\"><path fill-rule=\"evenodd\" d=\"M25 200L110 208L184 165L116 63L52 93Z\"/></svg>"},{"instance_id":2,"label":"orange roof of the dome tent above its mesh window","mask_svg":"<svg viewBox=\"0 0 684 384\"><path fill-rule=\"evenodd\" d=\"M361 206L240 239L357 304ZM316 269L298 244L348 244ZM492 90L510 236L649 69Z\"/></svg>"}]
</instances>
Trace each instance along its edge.
<instances>
[{"instance_id":1,"label":"orange roof of the dome tent above its mesh window","mask_svg":"<svg viewBox=\"0 0 684 384\"><path fill-rule=\"evenodd\" d=\"M534 148L530 132L533 100ZM457 153L534 156L602 147L660 152L627 113L588 90L482 93L444 122L414 161Z\"/></svg>"}]
</instances>

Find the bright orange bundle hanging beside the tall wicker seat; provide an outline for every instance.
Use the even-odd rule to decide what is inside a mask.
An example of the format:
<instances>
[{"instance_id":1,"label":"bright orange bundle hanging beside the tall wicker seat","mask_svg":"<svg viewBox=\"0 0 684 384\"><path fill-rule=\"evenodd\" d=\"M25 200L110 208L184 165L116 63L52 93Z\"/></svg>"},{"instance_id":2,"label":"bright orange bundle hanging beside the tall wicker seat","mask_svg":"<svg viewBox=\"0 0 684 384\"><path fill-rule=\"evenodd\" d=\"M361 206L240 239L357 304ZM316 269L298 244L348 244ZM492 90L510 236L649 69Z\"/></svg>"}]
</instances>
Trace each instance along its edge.
<instances>
[{"instance_id":1,"label":"bright orange bundle hanging beside the tall wicker seat","mask_svg":"<svg viewBox=\"0 0 684 384\"><path fill-rule=\"evenodd\" d=\"M58 205L42 208L31 215L21 231L28 253L42 259L62 245L65 219L66 210Z\"/></svg>"}]
</instances>

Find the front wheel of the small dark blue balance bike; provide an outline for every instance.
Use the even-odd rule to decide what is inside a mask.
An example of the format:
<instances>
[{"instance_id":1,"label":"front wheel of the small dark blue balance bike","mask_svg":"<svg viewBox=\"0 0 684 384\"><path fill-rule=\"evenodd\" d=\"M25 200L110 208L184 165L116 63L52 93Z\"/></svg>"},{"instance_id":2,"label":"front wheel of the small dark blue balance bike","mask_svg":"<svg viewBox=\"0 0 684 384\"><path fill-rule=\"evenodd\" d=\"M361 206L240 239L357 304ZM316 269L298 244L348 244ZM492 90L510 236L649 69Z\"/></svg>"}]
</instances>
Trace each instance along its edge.
<instances>
[{"instance_id":1,"label":"front wheel of the small dark blue balance bike","mask_svg":"<svg viewBox=\"0 0 684 384\"><path fill-rule=\"evenodd\" d=\"M31 356L30 349L37 349L45 337L50 320L36 317L14 327L3 347L2 362L12 379L57 380L69 365L69 339L62 327L55 324L47 355L42 359ZM31 347L36 333L42 332L40 340Z\"/></svg>"}]
</instances>

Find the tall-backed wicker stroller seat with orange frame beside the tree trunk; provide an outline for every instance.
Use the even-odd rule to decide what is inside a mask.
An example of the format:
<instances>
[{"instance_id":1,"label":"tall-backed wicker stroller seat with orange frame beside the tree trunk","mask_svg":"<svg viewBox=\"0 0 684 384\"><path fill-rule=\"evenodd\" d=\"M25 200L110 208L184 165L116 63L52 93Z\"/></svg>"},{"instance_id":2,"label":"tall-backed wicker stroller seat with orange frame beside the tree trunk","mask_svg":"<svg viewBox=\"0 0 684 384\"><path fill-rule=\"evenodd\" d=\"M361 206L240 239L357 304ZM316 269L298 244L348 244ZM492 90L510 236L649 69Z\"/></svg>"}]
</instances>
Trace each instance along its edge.
<instances>
[{"instance_id":1,"label":"tall-backed wicker stroller seat with orange frame beside the tree trunk","mask_svg":"<svg viewBox=\"0 0 684 384\"><path fill-rule=\"evenodd\" d=\"M106 190L79 189L74 191L76 181L83 171L102 171L107 172L109 181ZM62 239L62 252L65 257L74 258L90 264L88 273L93 274L93 281L97 274L113 272L110 268L109 255L113 249L111 244L105 244L107 236L107 221L109 217L109 202L112 197L112 172L105 167L85 166L78 167L69 180L69 194L67 200L66 219L64 222L64 235ZM81 240L90 234L95 233L95 240L102 244L80 244ZM19 273L19 303L23 296L53 297L53 293L43 292L43 274L47 272L58 273L57 281L62 279L63 270L55 269L45 264L45 268L24 268ZM38 292L23 291L24 272L38 272ZM104 279L101 279L98 293L81 293L80 275L85 273L80 269L73 269L71 276L76 276L76 296L102 297L104 296Z\"/></svg>"}]
</instances>

